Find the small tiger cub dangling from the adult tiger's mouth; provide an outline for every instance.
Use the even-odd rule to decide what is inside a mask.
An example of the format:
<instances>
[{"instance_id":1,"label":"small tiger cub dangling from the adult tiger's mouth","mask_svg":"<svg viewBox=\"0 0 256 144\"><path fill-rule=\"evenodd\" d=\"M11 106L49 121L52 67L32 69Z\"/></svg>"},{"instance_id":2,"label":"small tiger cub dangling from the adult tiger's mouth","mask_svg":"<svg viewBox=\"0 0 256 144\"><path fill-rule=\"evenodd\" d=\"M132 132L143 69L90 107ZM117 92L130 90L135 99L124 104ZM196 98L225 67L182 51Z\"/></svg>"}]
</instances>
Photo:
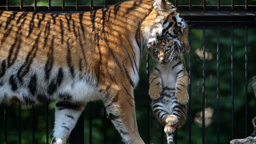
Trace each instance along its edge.
<instances>
[{"instance_id":1,"label":"small tiger cub dangling from the adult tiger's mouth","mask_svg":"<svg viewBox=\"0 0 256 144\"><path fill-rule=\"evenodd\" d=\"M158 56L159 63L156 63L149 77L149 95L153 99L152 111L158 121L165 126L167 144L173 144L173 132L185 123L186 103L189 99L187 71L182 61L178 59L177 53L180 50L173 49L173 45L175 45L173 38L160 38L154 54ZM164 55L170 55L171 62L164 62Z\"/></svg>"}]
</instances>

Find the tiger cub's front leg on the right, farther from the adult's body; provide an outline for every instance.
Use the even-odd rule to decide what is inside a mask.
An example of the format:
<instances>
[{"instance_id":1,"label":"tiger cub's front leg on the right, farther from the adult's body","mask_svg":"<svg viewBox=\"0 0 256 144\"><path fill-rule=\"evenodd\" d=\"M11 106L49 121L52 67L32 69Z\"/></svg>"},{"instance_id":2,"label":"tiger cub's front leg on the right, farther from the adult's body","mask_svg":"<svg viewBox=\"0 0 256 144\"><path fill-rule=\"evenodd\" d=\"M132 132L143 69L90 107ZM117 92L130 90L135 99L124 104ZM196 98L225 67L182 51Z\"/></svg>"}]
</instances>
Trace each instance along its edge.
<instances>
[{"instance_id":1,"label":"tiger cub's front leg on the right, farther from the adult's body","mask_svg":"<svg viewBox=\"0 0 256 144\"><path fill-rule=\"evenodd\" d=\"M188 75L185 69L182 69L177 74L176 92L178 103L187 104L189 96L187 94Z\"/></svg>"}]
</instances>

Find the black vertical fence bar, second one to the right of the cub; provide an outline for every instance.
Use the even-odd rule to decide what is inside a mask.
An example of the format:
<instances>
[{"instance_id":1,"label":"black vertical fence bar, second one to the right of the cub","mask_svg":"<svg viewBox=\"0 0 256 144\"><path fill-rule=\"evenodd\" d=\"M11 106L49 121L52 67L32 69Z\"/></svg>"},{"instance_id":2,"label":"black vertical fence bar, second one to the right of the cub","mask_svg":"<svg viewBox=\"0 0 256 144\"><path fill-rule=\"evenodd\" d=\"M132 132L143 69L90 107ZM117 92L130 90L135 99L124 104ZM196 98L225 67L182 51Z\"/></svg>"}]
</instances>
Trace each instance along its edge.
<instances>
[{"instance_id":1,"label":"black vertical fence bar, second one to the right of the cub","mask_svg":"<svg viewBox=\"0 0 256 144\"><path fill-rule=\"evenodd\" d=\"M204 144L204 106L205 106L205 26L203 27L203 83L202 83L202 144Z\"/></svg>"}]
</instances>

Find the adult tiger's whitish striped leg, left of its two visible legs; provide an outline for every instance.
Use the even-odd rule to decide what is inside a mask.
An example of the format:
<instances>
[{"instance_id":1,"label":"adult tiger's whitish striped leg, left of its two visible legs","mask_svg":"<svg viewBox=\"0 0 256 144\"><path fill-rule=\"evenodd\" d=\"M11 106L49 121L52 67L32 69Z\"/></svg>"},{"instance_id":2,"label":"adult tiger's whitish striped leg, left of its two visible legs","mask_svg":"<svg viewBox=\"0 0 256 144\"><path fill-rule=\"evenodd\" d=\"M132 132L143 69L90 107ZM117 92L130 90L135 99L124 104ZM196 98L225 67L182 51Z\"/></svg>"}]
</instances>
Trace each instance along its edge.
<instances>
[{"instance_id":1,"label":"adult tiger's whitish striped leg, left of its two visible legs","mask_svg":"<svg viewBox=\"0 0 256 144\"><path fill-rule=\"evenodd\" d=\"M57 102L51 144L66 144L86 103Z\"/></svg>"}]
</instances>

